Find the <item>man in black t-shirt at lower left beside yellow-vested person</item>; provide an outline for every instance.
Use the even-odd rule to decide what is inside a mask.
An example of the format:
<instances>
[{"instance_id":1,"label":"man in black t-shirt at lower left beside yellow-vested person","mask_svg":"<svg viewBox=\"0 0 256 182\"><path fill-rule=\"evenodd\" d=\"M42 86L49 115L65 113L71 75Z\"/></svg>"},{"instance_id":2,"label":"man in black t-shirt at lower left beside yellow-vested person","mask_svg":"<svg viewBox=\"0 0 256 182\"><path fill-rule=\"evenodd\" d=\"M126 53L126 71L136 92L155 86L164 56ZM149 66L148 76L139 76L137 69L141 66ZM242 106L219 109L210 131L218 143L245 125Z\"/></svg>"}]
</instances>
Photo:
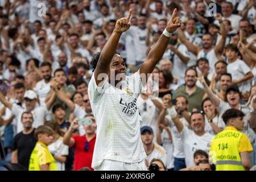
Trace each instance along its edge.
<instances>
[{"instance_id":1,"label":"man in black t-shirt at lower left beside yellow-vested person","mask_svg":"<svg viewBox=\"0 0 256 182\"><path fill-rule=\"evenodd\" d=\"M24 129L14 137L11 163L20 164L28 169L30 154L32 153L36 144L36 139L34 136L35 129L32 127L32 113L30 111L25 111L22 113L21 122Z\"/></svg>"}]
</instances>

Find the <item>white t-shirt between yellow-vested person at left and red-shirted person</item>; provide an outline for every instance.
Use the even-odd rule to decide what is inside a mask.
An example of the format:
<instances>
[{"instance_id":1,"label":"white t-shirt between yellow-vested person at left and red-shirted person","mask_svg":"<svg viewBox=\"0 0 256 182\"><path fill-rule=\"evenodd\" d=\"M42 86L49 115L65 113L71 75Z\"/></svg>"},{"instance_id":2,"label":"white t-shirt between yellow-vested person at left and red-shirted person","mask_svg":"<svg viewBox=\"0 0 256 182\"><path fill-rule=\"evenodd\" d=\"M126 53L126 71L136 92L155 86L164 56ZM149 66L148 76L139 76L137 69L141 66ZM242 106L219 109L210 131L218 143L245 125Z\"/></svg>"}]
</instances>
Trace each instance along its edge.
<instances>
[{"instance_id":1,"label":"white t-shirt between yellow-vested person at left and red-shirted person","mask_svg":"<svg viewBox=\"0 0 256 182\"><path fill-rule=\"evenodd\" d=\"M49 151L58 156L67 156L68 155L68 146L63 143L63 138L58 138L55 142L49 144L48 146ZM65 163L60 162L59 160L55 159L58 171L65 171Z\"/></svg>"}]
</instances>

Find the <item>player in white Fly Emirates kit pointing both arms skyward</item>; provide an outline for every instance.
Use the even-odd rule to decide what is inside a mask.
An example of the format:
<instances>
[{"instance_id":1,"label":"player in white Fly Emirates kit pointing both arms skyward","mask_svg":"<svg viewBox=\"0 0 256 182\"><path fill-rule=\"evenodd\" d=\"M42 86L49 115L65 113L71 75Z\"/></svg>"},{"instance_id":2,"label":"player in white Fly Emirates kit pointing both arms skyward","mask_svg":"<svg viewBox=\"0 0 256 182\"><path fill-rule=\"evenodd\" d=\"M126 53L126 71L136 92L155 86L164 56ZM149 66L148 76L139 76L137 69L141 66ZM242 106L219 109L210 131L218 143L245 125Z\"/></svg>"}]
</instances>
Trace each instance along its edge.
<instances>
[{"instance_id":1,"label":"player in white Fly Emirates kit pointing both arms skyward","mask_svg":"<svg viewBox=\"0 0 256 182\"><path fill-rule=\"evenodd\" d=\"M142 119L136 101L146 86L147 74L152 73L172 32L181 25L176 13L175 9L166 30L134 75L126 77L125 61L115 54L122 32L130 28L131 10L127 18L117 20L102 52L93 55L91 63L94 72L88 94L97 123L92 162L95 170L146 170L143 162L146 153L140 132Z\"/></svg>"}]
</instances>

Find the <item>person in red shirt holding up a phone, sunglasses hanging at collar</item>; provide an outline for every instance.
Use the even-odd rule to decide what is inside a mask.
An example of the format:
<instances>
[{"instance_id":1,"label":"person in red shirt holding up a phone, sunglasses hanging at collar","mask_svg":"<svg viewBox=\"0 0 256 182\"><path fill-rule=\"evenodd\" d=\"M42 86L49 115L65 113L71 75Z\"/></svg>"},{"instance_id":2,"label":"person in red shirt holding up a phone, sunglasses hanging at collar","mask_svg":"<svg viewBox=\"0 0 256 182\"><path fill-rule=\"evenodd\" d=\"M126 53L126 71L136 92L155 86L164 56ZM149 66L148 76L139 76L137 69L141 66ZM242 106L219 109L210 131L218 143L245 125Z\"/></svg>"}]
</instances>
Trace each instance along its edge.
<instances>
[{"instance_id":1,"label":"person in red shirt holding up a phone, sunglasses hanging at collar","mask_svg":"<svg viewBox=\"0 0 256 182\"><path fill-rule=\"evenodd\" d=\"M92 114L88 114L85 118L91 119L91 125L82 125L85 134L82 136L74 135L73 131L79 129L79 119L74 119L68 131L65 133L63 143L75 150L74 171L78 171L82 167L92 168L92 157L94 145L96 142L96 122Z\"/></svg>"}]
</instances>

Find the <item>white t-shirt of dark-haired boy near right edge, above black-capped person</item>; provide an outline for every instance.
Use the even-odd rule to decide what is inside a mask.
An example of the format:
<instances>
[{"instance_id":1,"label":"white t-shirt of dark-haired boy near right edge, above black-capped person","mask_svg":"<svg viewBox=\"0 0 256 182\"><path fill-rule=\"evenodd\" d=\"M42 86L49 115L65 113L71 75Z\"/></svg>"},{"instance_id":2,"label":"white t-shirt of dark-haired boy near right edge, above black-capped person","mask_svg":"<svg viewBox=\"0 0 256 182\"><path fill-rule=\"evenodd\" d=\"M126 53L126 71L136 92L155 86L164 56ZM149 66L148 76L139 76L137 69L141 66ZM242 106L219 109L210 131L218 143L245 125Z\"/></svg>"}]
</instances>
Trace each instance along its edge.
<instances>
[{"instance_id":1,"label":"white t-shirt of dark-haired boy near right edge, above black-capped person","mask_svg":"<svg viewBox=\"0 0 256 182\"><path fill-rule=\"evenodd\" d=\"M241 59L237 59L233 63L229 63L226 69L227 72L232 75L232 80L241 80L243 77L245 77L247 73L251 71L251 69ZM251 79L241 82L240 84L238 84L238 86L240 92L250 92Z\"/></svg>"}]
</instances>

